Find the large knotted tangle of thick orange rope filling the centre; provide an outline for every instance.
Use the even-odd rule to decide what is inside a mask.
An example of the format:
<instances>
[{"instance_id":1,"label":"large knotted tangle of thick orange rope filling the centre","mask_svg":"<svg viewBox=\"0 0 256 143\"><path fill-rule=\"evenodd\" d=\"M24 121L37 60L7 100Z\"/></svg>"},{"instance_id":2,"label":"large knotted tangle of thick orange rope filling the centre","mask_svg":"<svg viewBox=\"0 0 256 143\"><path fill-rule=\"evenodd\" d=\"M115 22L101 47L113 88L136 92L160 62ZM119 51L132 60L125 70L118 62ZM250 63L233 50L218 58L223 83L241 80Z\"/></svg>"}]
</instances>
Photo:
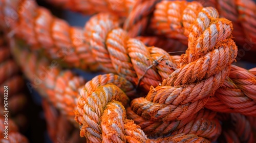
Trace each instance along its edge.
<instances>
[{"instance_id":1,"label":"large knotted tangle of thick orange rope filling the centre","mask_svg":"<svg viewBox=\"0 0 256 143\"><path fill-rule=\"evenodd\" d=\"M97 1L97 8L92 7L96 1L79 2L88 2L84 11L105 13L94 15L80 29L34 1L1 1L0 25L11 35L12 54L32 82L29 86L75 126L79 123L80 135L88 142L207 142L221 133L228 140L232 133L222 132L217 112L232 113L227 121L253 116L241 123L243 127L255 121L255 68L231 65L238 53L233 26L219 18L215 8L185 1ZM83 5L76 6L79 10ZM185 54L170 56L159 47L146 46L156 37L135 38L146 29L186 44ZM85 84L59 64L111 74ZM140 90L146 97L140 97Z\"/></svg>"}]
</instances>

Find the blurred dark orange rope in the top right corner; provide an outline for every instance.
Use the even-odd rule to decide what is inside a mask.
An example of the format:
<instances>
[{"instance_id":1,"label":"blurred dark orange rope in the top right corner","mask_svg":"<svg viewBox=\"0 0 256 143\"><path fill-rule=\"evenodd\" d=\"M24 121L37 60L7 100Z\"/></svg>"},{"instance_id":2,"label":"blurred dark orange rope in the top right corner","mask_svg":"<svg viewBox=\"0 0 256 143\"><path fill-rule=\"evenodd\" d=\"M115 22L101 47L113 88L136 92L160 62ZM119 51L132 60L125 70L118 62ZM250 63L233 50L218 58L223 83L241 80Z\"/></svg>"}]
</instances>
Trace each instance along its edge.
<instances>
[{"instance_id":1,"label":"blurred dark orange rope in the top right corner","mask_svg":"<svg viewBox=\"0 0 256 143\"><path fill-rule=\"evenodd\" d=\"M255 51L256 46L256 4L251 0L239 1L216 1L211 0L211 4L198 0L203 6L215 7L220 13L220 17L225 17L232 21L233 28L236 29L232 32L234 40L243 45L244 49ZM246 45L246 46L245 46ZM248 51L249 51L248 50Z\"/></svg>"}]
</instances>

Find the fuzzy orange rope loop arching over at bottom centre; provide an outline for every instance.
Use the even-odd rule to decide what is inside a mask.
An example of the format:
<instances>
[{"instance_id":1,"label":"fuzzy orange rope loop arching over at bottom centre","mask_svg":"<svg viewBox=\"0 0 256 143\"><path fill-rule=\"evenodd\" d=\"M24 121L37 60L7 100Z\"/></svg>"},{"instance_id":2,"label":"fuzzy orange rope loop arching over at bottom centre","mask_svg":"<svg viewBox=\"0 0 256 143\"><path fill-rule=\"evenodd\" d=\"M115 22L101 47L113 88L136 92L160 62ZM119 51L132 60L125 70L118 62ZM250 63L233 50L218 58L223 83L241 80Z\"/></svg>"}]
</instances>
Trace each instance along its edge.
<instances>
[{"instance_id":1,"label":"fuzzy orange rope loop arching over at bottom centre","mask_svg":"<svg viewBox=\"0 0 256 143\"><path fill-rule=\"evenodd\" d=\"M100 75L87 82L81 90L76 114L77 122L82 125L80 135L91 142L152 142L138 125L126 119L124 107L129 103L130 94L134 94L133 85L117 75ZM174 140L179 135L186 138L177 134L154 142ZM205 140L196 135L191 137L194 141Z\"/></svg>"}]
</instances>

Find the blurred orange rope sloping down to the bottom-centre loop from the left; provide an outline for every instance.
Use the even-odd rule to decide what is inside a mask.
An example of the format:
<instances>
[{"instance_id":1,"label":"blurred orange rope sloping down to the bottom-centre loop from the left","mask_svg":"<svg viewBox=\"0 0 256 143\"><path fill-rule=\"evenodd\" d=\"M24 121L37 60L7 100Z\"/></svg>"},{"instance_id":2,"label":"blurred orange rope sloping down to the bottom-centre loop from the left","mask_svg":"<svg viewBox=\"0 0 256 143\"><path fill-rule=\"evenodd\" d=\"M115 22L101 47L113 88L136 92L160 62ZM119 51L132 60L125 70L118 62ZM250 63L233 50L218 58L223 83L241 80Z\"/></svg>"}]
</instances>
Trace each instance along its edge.
<instances>
[{"instance_id":1,"label":"blurred orange rope sloping down to the bottom-centre loop from the left","mask_svg":"<svg viewBox=\"0 0 256 143\"><path fill-rule=\"evenodd\" d=\"M49 62L36 53L21 50L12 40L11 50L23 73L31 81L27 83L30 92L36 89L40 95L52 103L69 121L74 121L79 88L85 83L82 77L70 70L62 70L56 61ZM27 66L29 65L29 66Z\"/></svg>"}]
</instances>

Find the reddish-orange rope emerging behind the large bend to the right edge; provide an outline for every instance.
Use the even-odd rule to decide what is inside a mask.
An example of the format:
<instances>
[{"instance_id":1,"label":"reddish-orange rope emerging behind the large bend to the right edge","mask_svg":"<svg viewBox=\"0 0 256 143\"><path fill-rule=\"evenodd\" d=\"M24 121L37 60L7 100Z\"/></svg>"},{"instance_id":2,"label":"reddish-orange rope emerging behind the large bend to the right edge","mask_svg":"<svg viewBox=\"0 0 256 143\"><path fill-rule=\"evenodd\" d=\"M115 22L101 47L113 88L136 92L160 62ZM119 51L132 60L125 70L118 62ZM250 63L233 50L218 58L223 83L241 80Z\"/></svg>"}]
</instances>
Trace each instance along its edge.
<instances>
[{"instance_id":1,"label":"reddish-orange rope emerging behind the large bend to the right edge","mask_svg":"<svg viewBox=\"0 0 256 143\"><path fill-rule=\"evenodd\" d=\"M229 78L216 90L205 107L218 112L238 112L256 116L256 76L248 70L231 65Z\"/></svg>"}]
</instances>

